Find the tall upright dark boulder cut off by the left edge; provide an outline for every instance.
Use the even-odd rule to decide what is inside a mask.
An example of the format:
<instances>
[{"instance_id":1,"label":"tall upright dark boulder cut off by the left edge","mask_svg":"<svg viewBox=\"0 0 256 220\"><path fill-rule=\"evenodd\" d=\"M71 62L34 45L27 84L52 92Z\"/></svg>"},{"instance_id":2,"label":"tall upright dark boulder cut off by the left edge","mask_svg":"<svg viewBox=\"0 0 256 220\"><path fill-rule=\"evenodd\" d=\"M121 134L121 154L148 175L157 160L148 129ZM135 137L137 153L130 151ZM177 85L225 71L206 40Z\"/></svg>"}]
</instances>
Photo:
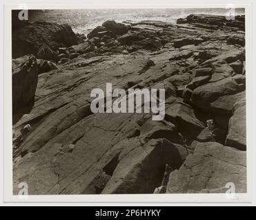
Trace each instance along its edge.
<instances>
[{"instance_id":1,"label":"tall upright dark boulder cut off by the left edge","mask_svg":"<svg viewBox=\"0 0 256 220\"><path fill-rule=\"evenodd\" d=\"M37 89L37 59L23 56L12 60L12 109L19 111L35 100Z\"/></svg>"}]
</instances>

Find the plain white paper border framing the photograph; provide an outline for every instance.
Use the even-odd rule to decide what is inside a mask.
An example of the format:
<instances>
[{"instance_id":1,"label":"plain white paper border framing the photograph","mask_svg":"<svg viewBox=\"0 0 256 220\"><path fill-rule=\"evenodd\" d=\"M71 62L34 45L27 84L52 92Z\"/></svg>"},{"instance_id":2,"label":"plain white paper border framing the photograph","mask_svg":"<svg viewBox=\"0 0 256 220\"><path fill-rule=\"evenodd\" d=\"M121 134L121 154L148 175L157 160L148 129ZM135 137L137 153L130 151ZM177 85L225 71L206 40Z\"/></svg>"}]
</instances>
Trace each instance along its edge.
<instances>
[{"instance_id":1,"label":"plain white paper border framing the photograph","mask_svg":"<svg viewBox=\"0 0 256 220\"><path fill-rule=\"evenodd\" d=\"M28 9L88 9L88 8L225 8L226 4L27 4ZM19 4L4 6L4 74L3 74L3 201L21 203L248 203L253 193L253 131L248 118L254 112L253 105L253 7L252 4L234 4L235 8L245 8L246 14L246 138L247 138L247 192L237 193L236 199L228 199L226 194L136 194L136 195L28 195L21 198L12 195L12 22L11 10L19 9ZM250 128L250 129L249 129Z\"/></svg>"}]
</instances>

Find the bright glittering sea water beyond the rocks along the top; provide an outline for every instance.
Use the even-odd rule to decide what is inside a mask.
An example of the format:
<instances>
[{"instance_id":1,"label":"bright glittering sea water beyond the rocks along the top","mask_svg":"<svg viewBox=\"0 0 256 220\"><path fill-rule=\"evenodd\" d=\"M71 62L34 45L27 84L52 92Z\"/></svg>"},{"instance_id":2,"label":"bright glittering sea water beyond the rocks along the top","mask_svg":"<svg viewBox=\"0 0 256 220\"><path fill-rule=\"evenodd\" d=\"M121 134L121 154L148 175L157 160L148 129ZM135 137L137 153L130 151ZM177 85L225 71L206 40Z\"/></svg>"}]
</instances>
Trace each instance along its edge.
<instances>
[{"instance_id":1,"label":"bright glittering sea water beyond the rocks along the top","mask_svg":"<svg viewBox=\"0 0 256 220\"><path fill-rule=\"evenodd\" d=\"M30 10L30 21L68 23L74 32L88 34L104 21L165 21L176 23L189 14L226 15L225 8L156 8L156 9L86 9L86 10ZM235 15L244 14L244 8L236 8Z\"/></svg>"}]
</instances>

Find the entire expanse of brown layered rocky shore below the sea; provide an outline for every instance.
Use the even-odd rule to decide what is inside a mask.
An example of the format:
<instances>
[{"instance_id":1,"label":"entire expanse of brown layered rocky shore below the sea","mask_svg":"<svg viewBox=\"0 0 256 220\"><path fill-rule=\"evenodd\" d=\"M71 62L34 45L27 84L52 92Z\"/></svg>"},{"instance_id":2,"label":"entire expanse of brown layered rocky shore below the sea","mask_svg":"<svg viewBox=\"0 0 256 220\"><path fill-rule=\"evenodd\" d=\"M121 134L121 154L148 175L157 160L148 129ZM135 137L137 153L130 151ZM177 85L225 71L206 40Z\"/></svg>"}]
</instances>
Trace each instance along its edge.
<instances>
[{"instance_id":1,"label":"entire expanse of brown layered rocky shore below the sea","mask_svg":"<svg viewBox=\"0 0 256 220\"><path fill-rule=\"evenodd\" d=\"M244 16L12 31L14 194L246 192ZM90 112L90 91L166 89L166 115Z\"/></svg>"}]
</instances>

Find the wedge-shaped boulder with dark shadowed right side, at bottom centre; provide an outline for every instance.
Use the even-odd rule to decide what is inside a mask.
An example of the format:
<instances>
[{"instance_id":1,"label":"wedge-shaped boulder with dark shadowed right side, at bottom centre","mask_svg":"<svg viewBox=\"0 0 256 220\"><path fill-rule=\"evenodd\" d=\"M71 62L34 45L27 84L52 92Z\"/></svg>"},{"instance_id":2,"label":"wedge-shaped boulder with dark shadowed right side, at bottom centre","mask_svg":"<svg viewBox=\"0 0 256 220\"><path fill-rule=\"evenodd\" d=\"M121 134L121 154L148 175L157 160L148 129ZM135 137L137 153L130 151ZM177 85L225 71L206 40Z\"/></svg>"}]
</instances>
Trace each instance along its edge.
<instances>
[{"instance_id":1,"label":"wedge-shaped boulder with dark shadowed right side, at bottom centre","mask_svg":"<svg viewBox=\"0 0 256 220\"><path fill-rule=\"evenodd\" d=\"M151 140L137 146L120 158L102 194L152 193L161 184L166 163L172 168L181 165L177 148L167 140Z\"/></svg>"}]
</instances>

